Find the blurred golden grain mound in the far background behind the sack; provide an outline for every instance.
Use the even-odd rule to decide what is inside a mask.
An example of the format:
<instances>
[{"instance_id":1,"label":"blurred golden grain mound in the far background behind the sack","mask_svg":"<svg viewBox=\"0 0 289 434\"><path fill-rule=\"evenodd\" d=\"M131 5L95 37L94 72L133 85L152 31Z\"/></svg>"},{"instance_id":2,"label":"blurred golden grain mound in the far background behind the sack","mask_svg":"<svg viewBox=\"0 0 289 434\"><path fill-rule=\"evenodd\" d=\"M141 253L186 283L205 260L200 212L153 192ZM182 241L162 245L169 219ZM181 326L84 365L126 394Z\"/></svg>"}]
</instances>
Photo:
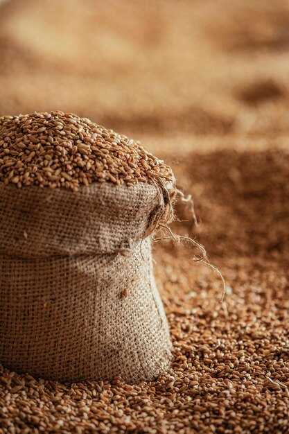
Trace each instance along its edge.
<instances>
[{"instance_id":1,"label":"blurred golden grain mound in the far background behind the sack","mask_svg":"<svg viewBox=\"0 0 289 434\"><path fill-rule=\"evenodd\" d=\"M283 0L3 3L0 114L67 110L141 139L282 135L288 24Z\"/></svg>"}]
</instances>

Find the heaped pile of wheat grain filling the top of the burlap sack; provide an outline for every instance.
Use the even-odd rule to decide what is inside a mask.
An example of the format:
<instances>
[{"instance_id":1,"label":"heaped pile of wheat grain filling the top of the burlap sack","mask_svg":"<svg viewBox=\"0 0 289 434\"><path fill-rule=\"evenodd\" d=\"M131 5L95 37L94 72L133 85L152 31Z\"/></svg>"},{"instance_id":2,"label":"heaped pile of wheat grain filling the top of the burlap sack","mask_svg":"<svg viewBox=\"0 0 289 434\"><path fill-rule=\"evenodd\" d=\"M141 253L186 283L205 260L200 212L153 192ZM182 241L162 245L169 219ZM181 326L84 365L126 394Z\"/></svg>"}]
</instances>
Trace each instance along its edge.
<instances>
[{"instance_id":1,"label":"heaped pile of wheat grain filling the top of the burlap sack","mask_svg":"<svg viewBox=\"0 0 289 434\"><path fill-rule=\"evenodd\" d=\"M171 180L161 160L136 141L71 113L0 118L0 182L78 190L81 184Z\"/></svg>"}]
</instances>

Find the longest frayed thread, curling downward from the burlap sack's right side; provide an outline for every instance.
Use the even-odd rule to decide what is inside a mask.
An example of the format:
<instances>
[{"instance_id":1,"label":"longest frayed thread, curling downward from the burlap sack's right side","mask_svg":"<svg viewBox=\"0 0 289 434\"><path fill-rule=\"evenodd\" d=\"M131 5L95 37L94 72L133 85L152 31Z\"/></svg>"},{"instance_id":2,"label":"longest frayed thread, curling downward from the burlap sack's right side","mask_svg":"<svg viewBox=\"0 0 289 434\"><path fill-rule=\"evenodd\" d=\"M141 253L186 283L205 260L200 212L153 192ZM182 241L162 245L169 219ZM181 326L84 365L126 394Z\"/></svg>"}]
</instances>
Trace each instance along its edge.
<instances>
[{"instance_id":1,"label":"longest frayed thread, curling downward from the burlap sack's right side","mask_svg":"<svg viewBox=\"0 0 289 434\"><path fill-rule=\"evenodd\" d=\"M201 256L200 257L196 257L196 256L193 257L193 261L203 263L205 266L208 266L209 268L211 268L214 272L216 272L218 274L218 276L222 280L222 293L220 295L219 302L220 303L224 302L225 295L226 295L225 279L222 276L222 273L220 272L220 270L216 266L214 266L212 263L209 262L209 259L207 257L207 252L206 252L204 246L202 244L198 243L198 241L195 241L193 238L191 238L188 235L176 235L176 234L174 234L172 229L170 229L170 227L168 227L166 225L162 225L161 223L159 223L159 226L166 229L169 233L169 236L160 236L157 238L152 237L153 241L173 240L176 243L181 243L182 240L185 240L185 241L189 241L189 243L192 243L196 248L198 248L200 250Z\"/></svg>"}]
</instances>

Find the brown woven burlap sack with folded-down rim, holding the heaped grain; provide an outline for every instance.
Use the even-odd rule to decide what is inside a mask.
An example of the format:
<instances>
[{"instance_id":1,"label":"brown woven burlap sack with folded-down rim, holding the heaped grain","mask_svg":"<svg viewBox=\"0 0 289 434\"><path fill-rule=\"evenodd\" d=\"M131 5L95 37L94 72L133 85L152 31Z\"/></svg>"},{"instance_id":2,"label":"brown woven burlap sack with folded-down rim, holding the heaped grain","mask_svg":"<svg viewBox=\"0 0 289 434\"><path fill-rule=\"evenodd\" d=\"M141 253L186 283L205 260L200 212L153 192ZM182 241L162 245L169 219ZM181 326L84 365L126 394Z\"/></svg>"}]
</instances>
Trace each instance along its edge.
<instances>
[{"instance_id":1,"label":"brown woven burlap sack with folded-down rim, holding the heaped grain","mask_svg":"<svg viewBox=\"0 0 289 434\"><path fill-rule=\"evenodd\" d=\"M0 361L61 381L150 380L170 337L152 272L150 184L0 185Z\"/></svg>"}]
</instances>

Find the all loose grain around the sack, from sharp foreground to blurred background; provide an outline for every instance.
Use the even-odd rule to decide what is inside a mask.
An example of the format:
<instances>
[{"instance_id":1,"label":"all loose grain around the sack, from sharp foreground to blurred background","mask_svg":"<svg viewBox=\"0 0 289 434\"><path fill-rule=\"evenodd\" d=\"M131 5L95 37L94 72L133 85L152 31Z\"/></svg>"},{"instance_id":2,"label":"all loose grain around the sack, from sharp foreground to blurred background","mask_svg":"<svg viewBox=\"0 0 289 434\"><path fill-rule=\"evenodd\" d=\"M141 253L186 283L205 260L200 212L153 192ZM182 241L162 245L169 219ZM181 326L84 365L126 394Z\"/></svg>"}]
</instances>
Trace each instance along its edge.
<instances>
[{"instance_id":1,"label":"all loose grain around the sack, from sharp foreground to blurred background","mask_svg":"<svg viewBox=\"0 0 289 434\"><path fill-rule=\"evenodd\" d=\"M3 370L2 432L288 433L288 1L80 3L3 4L0 113L76 112L164 157L202 220L175 230L227 296L156 243L171 370L130 386Z\"/></svg>"}]
</instances>

